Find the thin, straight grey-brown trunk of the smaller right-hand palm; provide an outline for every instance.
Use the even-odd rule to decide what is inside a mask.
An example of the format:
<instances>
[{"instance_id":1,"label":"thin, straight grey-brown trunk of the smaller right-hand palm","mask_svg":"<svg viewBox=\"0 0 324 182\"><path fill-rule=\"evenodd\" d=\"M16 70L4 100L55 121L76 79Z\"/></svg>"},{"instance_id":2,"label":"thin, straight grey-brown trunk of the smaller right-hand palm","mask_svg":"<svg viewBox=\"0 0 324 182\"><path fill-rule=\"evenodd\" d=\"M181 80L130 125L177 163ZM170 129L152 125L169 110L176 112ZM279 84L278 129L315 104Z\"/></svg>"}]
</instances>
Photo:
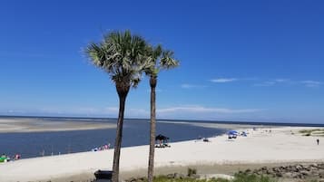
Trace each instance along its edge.
<instances>
[{"instance_id":1,"label":"thin, straight grey-brown trunk of the smaller right-hand palm","mask_svg":"<svg viewBox=\"0 0 324 182\"><path fill-rule=\"evenodd\" d=\"M157 83L157 77L151 76L151 129L150 129L150 154L149 154L149 169L148 169L148 181L153 181L154 173L154 148L155 148L155 88Z\"/></svg>"}]
</instances>

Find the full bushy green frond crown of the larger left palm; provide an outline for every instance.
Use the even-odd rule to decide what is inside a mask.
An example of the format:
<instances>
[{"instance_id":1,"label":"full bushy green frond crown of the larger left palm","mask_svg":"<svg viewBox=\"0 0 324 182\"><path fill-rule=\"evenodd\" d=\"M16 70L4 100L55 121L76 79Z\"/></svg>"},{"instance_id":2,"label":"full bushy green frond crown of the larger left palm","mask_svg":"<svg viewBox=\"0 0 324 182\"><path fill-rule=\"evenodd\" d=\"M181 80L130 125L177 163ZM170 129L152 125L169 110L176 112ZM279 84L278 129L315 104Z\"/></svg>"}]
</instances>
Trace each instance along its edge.
<instances>
[{"instance_id":1,"label":"full bushy green frond crown of the larger left palm","mask_svg":"<svg viewBox=\"0 0 324 182\"><path fill-rule=\"evenodd\" d=\"M152 67L146 56L147 43L130 31L106 34L101 43L90 43L86 54L93 64L107 72L117 83L136 87L142 70Z\"/></svg>"}]
</instances>

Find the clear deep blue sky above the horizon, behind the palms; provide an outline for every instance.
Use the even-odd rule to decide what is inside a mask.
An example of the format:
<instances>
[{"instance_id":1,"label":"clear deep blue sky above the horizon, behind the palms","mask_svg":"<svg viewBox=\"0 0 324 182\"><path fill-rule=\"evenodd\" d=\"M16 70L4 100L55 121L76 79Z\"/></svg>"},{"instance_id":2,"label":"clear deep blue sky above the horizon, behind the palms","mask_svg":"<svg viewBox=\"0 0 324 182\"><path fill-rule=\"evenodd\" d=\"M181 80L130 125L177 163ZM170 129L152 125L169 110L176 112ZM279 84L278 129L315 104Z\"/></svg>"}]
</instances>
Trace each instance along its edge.
<instances>
[{"instance_id":1,"label":"clear deep blue sky above the horizon, behind the palms","mask_svg":"<svg viewBox=\"0 0 324 182\"><path fill-rule=\"evenodd\" d=\"M323 1L1 1L0 114L117 117L83 49L130 29L171 49L164 119L324 123ZM126 117L149 118L143 78Z\"/></svg>"}]
</instances>

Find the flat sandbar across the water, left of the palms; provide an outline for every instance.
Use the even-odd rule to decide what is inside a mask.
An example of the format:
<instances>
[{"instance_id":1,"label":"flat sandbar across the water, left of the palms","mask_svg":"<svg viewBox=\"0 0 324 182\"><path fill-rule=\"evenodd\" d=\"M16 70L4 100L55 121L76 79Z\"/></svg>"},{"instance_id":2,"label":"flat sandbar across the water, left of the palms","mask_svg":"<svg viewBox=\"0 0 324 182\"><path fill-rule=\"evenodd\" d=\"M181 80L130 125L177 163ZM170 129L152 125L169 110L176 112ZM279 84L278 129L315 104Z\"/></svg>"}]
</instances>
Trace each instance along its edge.
<instances>
[{"instance_id":1,"label":"flat sandbar across the water, left of the palms","mask_svg":"<svg viewBox=\"0 0 324 182\"><path fill-rule=\"evenodd\" d=\"M115 124L90 121L46 121L35 119L0 119L0 133L44 132L85 129L113 129Z\"/></svg>"}]
</instances>

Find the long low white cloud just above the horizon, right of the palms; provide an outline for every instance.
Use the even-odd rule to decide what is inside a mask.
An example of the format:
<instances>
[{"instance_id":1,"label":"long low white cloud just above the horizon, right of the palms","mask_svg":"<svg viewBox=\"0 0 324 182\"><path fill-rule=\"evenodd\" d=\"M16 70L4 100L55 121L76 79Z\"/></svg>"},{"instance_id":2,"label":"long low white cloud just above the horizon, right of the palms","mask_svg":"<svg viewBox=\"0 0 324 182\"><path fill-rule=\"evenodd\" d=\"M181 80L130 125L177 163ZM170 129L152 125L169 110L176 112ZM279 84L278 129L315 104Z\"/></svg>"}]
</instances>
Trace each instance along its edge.
<instances>
[{"instance_id":1,"label":"long low white cloud just above the horizon, right of the palms","mask_svg":"<svg viewBox=\"0 0 324 182\"><path fill-rule=\"evenodd\" d=\"M234 114L234 113L250 113L257 112L260 109L240 109L232 110L227 108L206 108L201 106L186 106L186 107L172 107L156 110L158 113L172 113L172 112L194 112L194 113L223 113L223 114Z\"/></svg>"}]
</instances>

